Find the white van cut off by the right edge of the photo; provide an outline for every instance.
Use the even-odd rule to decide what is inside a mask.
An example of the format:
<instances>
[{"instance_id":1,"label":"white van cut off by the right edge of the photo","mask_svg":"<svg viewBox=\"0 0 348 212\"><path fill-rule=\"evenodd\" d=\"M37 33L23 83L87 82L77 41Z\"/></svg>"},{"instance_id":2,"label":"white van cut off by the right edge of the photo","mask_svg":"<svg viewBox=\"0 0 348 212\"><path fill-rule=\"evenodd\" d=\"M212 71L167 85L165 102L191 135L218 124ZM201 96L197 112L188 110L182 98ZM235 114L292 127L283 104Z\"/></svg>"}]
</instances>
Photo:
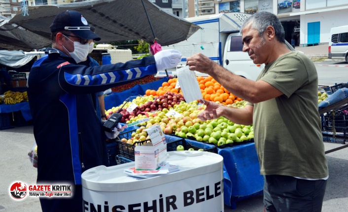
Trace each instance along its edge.
<instances>
[{"instance_id":1,"label":"white van cut off by the right edge of the photo","mask_svg":"<svg viewBox=\"0 0 348 212\"><path fill-rule=\"evenodd\" d=\"M348 25L331 28L330 36L328 58L348 62Z\"/></svg>"}]
</instances>

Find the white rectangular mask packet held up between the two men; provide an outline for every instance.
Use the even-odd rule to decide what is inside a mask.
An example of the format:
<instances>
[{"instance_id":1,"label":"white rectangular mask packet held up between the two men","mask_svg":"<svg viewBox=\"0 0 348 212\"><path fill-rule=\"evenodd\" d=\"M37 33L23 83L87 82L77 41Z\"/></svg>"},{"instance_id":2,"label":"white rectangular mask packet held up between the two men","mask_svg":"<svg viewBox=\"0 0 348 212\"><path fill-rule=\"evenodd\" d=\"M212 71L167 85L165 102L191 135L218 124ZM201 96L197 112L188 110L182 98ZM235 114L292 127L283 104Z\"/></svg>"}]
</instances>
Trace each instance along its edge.
<instances>
[{"instance_id":1,"label":"white rectangular mask packet held up between the two men","mask_svg":"<svg viewBox=\"0 0 348 212\"><path fill-rule=\"evenodd\" d=\"M203 98L196 74L189 69L188 65L177 69L176 74L186 102Z\"/></svg>"}]
</instances>

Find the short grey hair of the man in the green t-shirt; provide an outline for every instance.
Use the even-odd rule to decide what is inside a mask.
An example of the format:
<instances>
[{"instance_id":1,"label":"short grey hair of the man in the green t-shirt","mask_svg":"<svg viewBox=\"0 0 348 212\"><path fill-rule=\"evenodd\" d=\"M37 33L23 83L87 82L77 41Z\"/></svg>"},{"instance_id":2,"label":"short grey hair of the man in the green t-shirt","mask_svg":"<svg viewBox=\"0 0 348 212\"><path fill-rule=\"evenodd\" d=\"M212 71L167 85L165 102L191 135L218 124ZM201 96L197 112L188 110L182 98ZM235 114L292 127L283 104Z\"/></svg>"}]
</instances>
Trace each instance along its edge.
<instances>
[{"instance_id":1,"label":"short grey hair of the man in the green t-shirt","mask_svg":"<svg viewBox=\"0 0 348 212\"><path fill-rule=\"evenodd\" d=\"M244 27L249 24L251 24L252 29L259 32L260 37L262 37L268 26L272 26L275 29L278 41L280 43L285 43L284 28L275 14L265 11L255 13L245 20L241 27L241 31L243 31Z\"/></svg>"}]
</instances>

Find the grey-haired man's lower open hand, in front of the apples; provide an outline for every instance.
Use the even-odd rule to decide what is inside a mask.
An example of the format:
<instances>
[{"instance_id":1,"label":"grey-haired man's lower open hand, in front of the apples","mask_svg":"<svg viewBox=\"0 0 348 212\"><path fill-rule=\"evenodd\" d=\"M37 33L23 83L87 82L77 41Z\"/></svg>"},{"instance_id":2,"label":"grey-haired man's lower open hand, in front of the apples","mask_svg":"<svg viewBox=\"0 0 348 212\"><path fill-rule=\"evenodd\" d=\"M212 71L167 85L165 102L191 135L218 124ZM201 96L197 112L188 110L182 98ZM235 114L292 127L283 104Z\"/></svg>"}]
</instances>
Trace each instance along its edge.
<instances>
[{"instance_id":1,"label":"grey-haired man's lower open hand, in front of the apples","mask_svg":"<svg viewBox=\"0 0 348 212\"><path fill-rule=\"evenodd\" d=\"M218 105L215 102L207 101L204 99L200 99L199 102L207 105L207 108L197 116L197 118L201 119L202 121L217 119L223 116L225 108L223 104Z\"/></svg>"}]
</instances>

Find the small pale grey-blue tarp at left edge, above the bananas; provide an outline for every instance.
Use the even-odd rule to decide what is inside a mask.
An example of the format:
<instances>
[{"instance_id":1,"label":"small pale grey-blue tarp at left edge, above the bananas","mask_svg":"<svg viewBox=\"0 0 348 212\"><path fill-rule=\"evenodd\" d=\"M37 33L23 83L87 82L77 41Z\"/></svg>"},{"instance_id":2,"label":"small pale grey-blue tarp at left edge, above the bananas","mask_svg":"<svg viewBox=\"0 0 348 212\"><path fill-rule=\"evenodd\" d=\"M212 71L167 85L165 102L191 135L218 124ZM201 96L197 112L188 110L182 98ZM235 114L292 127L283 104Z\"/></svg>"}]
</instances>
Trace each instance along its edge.
<instances>
[{"instance_id":1,"label":"small pale grey-blue tarp at left edge, above the bananas","mask_svg":"<svg viewBox=\"0 0 348 212\"><path fill-rule=\"evenodd\" d=\"M34 59L35 55L26 55L23 51L0 50L0 64L19 68Z\"/></svg>"}]
</instances>

